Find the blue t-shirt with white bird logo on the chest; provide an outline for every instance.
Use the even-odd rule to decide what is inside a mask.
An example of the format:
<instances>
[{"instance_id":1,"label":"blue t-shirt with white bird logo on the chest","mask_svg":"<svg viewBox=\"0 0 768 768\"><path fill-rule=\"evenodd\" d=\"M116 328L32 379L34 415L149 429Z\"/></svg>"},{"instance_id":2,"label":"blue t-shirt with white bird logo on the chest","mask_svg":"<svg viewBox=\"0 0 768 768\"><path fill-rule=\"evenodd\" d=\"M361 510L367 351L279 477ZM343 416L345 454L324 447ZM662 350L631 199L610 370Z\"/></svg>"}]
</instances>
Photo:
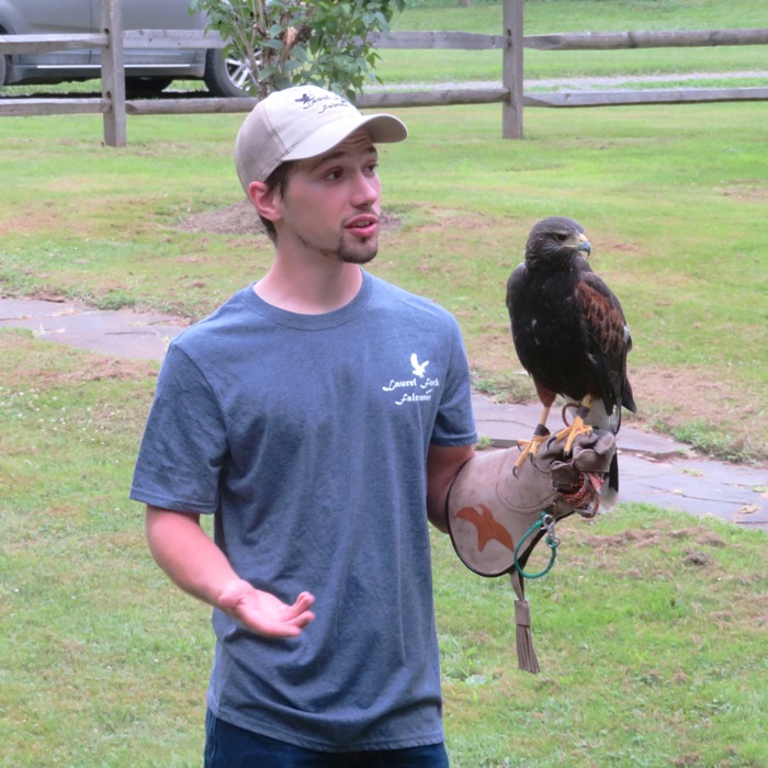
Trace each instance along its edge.
<instances>
[{"instance_id":1,"label":"blue t-shirt with white bird logo on the chest","mask_svg":"<svg viewBox=\"0 0 768 768\"><path fill-rule=\"evenodd\" d=\"M316 598L289 640L214 610L216 716L320 750L443 741L426 456L475 440L455 319L366 272L321 315L251 285L171 343L131 497L213 513L238 576Z\"/></svg>"}]
</instances>

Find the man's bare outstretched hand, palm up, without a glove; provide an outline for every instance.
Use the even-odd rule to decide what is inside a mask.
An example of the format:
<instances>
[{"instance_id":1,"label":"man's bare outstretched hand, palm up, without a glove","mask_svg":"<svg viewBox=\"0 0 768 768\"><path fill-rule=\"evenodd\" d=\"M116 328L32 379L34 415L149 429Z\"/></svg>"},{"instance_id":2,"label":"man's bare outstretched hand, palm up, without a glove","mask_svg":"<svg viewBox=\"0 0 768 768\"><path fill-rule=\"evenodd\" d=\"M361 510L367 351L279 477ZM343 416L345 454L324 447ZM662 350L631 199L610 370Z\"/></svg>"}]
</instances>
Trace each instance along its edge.
<instances>
[{"instance_id":1,"label":"man's bare outstretched hand, palm up, without a glove","mask_svg":"<svg viewBox=\"0 0 768 768\"><path fill-rule=\"evenodd\" d=\"M246 629L263 637L296 637L313 621L309 610L315 598L302 592L292 606L270 592L253 588L244 579L224 585L217 605L225 613L237 619Z\"/></svg>"}]
</instances>

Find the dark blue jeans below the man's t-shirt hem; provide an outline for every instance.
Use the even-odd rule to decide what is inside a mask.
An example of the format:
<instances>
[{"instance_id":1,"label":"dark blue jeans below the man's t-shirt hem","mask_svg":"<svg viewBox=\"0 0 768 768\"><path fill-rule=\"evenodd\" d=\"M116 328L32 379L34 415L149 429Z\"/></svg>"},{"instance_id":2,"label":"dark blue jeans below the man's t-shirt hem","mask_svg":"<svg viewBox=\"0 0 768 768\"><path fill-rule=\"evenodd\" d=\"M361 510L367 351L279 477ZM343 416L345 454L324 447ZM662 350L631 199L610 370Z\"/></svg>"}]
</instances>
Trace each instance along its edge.
<instances>
[{"instance_id":1,"label":"dark blue jeans below the man's t-shirt hem","mask_svg":"<svg viewBox=\"0 0 768 768\"><path fill-rule=\"evenodd\" d=\"M448 768L443 744L379 752L315 752L205 716L205 768Z\"/></svg>"}]
</instances>

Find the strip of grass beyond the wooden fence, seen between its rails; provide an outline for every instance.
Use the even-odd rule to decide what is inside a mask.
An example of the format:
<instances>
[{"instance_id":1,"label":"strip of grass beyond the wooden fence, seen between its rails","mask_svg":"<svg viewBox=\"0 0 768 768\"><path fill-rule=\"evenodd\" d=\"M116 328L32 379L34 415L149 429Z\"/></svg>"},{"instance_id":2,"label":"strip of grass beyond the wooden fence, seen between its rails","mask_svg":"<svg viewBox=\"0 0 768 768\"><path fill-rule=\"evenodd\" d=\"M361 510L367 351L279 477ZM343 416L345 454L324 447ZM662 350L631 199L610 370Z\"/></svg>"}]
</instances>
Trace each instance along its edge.
<instances>
[{"instance_id":1,"label":"strip of grass beyond the wooden fence, seen between its rails","mask_svg":"<svg viewBox=\"0 0 768 768\"><path fill-rule=\"evenodd\" d=\"M409 3L393 19L395 31L461 30L501 34L500 2ZM765 0L526 0L523 32L631 32L657 30L761 29L768 8ZM392 50L382 49L377 72L385 83L500 80L501 54L497 50ZM528 80L563 77L658 75L677 72L735 72L761 70L749 84L766 84L768 46L700 48L637 48L631 50L558 50L526 48ZM415 75L418 74L418 75Z\"/></svg>"}]
</instances>

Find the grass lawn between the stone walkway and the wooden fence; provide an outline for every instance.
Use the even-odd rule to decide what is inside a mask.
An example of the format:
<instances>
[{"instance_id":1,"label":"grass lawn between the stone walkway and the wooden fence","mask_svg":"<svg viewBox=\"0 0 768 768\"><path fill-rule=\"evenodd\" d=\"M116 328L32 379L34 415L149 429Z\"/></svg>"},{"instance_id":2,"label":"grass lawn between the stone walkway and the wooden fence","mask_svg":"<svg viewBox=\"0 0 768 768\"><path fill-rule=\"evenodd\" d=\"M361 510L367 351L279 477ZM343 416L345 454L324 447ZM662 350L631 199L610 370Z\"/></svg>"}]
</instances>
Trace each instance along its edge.
<instances>
[{"instance_id":1,"label":"grass lawn between the stone walkway and the wooden fence","mask_svg":"<svg viewBox=\"0 0 768 768\"><path fill-rule=\"evenodd\" d=\"M760 103L529 109L521 142L500 138L497 105L399 114L410 138L381 163L397 226L373 271L455 313L477 386L530 397L505 283L531 225L571 215L632 327L639 418L719 456L768 460ZM189 319L213 309L271 259L263 236L219 226L241 202L240 121L135 117L118 151L99 146L95 117L1 122L2 290Z\"/></svg>"}]
</instances>

